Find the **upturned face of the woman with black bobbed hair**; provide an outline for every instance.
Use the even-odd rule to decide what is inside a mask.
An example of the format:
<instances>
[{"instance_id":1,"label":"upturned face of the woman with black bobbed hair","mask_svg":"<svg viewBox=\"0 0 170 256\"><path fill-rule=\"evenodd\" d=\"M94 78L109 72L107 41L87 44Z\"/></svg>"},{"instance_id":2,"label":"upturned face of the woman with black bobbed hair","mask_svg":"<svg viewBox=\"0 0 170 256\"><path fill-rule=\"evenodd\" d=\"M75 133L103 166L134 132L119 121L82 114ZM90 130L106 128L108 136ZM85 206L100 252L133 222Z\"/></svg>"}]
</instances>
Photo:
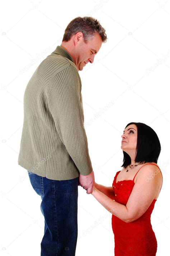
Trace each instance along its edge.
<instances>
[{"instance_id":1,"label":"upturned face of the woman with black bobbed hair","mask_svg":"<svg viewBox=\"0 0 170 256\"><path fill-rule=\"evenodd\" d=\"M123 131L121 149L126 153L132 152L137 146L137 126L132 124L126 127Z\"/></svg>"}]
</instances>

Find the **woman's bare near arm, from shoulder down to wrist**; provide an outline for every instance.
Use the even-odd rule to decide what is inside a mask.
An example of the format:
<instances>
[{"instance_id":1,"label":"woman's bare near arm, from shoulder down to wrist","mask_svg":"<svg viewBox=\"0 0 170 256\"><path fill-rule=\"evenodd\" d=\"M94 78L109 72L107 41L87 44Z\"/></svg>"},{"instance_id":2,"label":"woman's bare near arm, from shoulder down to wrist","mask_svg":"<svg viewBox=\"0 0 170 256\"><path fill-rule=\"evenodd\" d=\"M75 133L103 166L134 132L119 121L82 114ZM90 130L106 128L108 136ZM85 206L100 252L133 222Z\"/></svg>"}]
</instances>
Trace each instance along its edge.
<instances>
[{"instance_id":1,"label":"woman's bare near arm, from shoulder down to wrist","mask_svg":"<svg viewBox=\"0 0 170 256\"><path fill-rule=\"evenodd\" d=\"M157 174L155 174L156 171ZM153 178L148 179L148 176ZM151 165L143 167L126 205L111 200L95 186L93 187L91 194L104 206L105 209L110 211L110 213L128 223L140 218L151 205L156 196L160 178L162 180L162 177L159 176L159 169L156 170L155 167Z\"/></svg>"}]
</instances>

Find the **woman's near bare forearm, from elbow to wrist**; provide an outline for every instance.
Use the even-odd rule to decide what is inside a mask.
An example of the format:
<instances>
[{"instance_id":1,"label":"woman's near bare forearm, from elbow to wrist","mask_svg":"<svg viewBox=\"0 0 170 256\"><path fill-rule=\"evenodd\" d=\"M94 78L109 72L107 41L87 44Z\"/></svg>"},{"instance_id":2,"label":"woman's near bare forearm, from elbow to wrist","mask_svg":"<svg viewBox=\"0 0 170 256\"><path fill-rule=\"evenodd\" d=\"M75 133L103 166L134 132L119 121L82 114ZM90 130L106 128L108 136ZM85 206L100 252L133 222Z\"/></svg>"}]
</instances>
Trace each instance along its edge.
<instances>
[{"instance_id":1,"label":"woman's near bare forearm, from elbow to wrist","mask_svg":"<svg viewBox=\"0 0 170 256\"><path fill-rule=\"evenodd\" d=\"M96 187L93 187L93 191L91 194L110 213L112 213L114 216L118 217L119 219L123 220L124 222L128 222L128 210L126 208L126 205L119 204L116 201L113 201L104 193L99 191Z\"/></svg>"}]
</instances>

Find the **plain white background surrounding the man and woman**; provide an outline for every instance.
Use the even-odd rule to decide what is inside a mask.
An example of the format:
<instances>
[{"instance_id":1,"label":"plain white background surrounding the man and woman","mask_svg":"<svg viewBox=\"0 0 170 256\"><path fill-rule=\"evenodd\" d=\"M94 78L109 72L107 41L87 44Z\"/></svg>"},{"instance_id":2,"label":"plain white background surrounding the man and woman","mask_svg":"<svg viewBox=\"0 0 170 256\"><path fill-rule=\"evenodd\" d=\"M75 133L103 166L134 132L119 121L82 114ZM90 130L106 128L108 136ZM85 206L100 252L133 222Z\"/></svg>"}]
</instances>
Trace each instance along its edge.
<instances>
[{"instance_id":1,"label":"plain white background surrounding the man and woman","mask_svg":"<svg viewBox=\"0 0 170 256\"><path fill-rule=\"evenodd\" d=\"M61 44L67 24L77 16L98 19L108 36L94 63L80 72L96 182L112 186L121 169L125 126L132 121L151 126L160 139L158 164L163 174L151 224L157 256L170 254L169 2L6 0L1 4L0 256L40 255L41 197L30 185L27 170L18 165L23 95L37 66ZM76 255L114 255L111 214L81 187L78 214Z\"/></svg>"}]
</instances>

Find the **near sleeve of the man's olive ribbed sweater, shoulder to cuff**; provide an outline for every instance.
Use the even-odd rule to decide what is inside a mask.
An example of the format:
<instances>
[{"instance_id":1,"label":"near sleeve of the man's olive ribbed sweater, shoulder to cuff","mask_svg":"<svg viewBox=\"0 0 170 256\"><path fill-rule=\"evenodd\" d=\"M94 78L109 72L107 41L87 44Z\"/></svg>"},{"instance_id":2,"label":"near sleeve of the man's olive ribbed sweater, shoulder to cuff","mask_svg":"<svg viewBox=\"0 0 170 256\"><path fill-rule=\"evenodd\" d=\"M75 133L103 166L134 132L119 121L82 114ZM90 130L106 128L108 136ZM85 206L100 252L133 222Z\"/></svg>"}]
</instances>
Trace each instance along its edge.
<instances>
[{"instance_id":1,"label":"near sleeve of the man's olive ribbed sweater, shoulder to cuff","mask_svg":"<svg viewBox=\"0 0 170 256\"><path fill-rule=\"evenodd\" d=\"M92 172L84 114L80 97L80 77L72 65L53 78L48 95L49 111L57 132L80 174Z\"/></svg>"}]
</instances>

